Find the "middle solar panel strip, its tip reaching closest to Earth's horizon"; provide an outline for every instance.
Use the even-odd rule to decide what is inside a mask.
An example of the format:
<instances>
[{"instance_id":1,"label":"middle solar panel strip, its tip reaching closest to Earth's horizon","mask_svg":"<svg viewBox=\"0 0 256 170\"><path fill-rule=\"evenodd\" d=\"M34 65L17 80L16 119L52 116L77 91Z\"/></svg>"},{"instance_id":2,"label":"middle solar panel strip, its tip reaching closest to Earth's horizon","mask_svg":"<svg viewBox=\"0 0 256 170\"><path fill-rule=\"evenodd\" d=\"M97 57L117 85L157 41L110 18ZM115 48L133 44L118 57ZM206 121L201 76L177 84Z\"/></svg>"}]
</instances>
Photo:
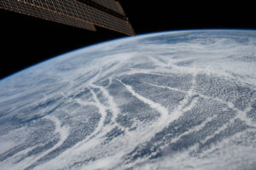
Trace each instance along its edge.
<instances>
[{"instance_id":1,"label":"middle solar panel strip, its tip reaching closest to Earth's horizon","mask_svg":"<svg viewBox=\"0 0 256 170\"><path fill-rule=\"evenodd\" d=\"M120 20L111 14L91 8L84 3L74 0L20 0L22 3L32 4L38 8L56 11L79 20L89 21L96 26L102 26L113 31L119 31L128 35L134 35L129 22Z\"/></svg>"}]
</instances>

